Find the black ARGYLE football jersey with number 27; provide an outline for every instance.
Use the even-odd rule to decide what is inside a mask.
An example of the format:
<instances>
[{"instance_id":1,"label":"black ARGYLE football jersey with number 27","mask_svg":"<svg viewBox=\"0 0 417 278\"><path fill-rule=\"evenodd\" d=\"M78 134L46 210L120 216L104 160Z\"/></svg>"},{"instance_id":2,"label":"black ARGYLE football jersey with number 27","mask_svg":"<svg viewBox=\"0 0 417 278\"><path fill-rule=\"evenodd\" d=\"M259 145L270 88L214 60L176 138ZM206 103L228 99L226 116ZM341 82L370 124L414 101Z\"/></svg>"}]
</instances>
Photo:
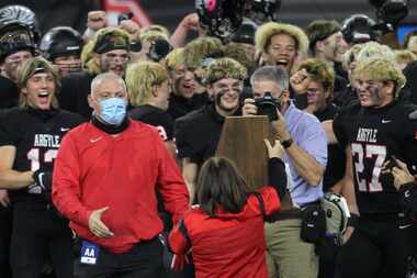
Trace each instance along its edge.
<instances>
[{"instance_id":1,"label":"black ARGYLE football jersey with number 27","mask_svg":"<svg viewBox=\"0 0 417 278\"><path fill-rule=\"evenodd\" d=\"M392 175L382 174L393 156L412 173L417 166L417 107L394 101L381 109L360 104L342 109L334 131L342 146L351 147L356 197L361 214L397 213L399 193Z\"/></svg>"}]
</instances>

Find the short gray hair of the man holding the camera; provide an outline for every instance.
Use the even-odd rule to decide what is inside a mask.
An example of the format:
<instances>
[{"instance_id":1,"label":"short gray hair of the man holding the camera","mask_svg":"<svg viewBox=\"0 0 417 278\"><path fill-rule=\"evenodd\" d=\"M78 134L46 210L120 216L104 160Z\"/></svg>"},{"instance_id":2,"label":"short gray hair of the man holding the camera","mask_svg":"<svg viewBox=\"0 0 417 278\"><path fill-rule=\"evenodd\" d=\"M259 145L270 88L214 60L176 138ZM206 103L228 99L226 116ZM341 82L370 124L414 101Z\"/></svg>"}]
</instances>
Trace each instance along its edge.
<instances>
[{"instance_id":1,"label":"short gray hair of the man holding the camera","mask_svg":"<svg viewBox=\"0 0 417 278\"><path fill-rule=\"evenodd\" d=\"M255 70L250 77L250 85L257 81L272 81L280 85L282 91L289 89L289 75L277 66L263 66Z\"/></svg>"}]
</instances>

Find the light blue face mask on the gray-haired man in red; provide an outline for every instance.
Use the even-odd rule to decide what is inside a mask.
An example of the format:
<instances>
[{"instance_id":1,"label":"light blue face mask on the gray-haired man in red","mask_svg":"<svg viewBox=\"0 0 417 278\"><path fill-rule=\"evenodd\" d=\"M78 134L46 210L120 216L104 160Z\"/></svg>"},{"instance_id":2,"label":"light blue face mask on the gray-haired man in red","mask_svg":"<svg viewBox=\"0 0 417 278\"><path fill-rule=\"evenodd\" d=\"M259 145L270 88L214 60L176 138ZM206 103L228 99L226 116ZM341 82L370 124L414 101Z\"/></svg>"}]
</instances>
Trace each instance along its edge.
<instances>
[{"instance_id":1,"label":"light blue face mask on the gray-haired man in red","mask_svg":"<svg viewBox=\"0 0 417 278\"><path fill-rule=\"evenodd\" d=\"M119 125L126 116L127 101L121 98L110 98L99 102L100 118L108 124Z\"/></svg>"}]
</instances>

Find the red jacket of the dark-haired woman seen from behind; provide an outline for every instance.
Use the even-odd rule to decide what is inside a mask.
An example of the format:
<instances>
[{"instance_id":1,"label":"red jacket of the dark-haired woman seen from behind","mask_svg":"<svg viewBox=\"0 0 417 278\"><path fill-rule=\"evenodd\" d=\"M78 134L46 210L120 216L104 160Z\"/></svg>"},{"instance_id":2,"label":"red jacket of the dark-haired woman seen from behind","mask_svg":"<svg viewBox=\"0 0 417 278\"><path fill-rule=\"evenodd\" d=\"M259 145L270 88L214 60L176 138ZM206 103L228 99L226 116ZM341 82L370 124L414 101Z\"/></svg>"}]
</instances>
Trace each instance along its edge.
<instances>
[{"instance_id":1,"label":"red jacket of the dark-haired woman seen from behind","mask_svg":"<svg viewBox=\"0 0 417 278\"><path fill-rule=\"evenodd\" d=\"M280 211L274 188L258 191L266 215ZM178 255L191 249L196 278L268 278L263 226L260 202L251 194L239 213L218 209L211 218L202 209L193 208L184 214L183 225L171 231L169 245Z\"/></svg>"}]
</instances>

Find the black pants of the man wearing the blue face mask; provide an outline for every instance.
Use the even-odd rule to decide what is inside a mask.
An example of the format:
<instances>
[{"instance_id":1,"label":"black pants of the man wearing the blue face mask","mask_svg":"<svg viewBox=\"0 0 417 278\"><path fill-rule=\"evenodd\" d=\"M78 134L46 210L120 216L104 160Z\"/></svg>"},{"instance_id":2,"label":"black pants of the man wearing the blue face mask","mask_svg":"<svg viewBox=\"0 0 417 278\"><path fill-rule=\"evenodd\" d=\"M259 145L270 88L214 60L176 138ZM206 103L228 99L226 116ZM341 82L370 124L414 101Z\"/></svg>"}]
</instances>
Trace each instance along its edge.
<instances>
[{"instance_id":1,"label":"black pants of the man wearing the blue face mask","mask_svg":"<svg viewBox=\"0 0 417 278\"><path fill-rule=\"evenodd\" d=\"M95 265L75 265L76 278L159 278L162 270L162 244L158 237L140 242L126 253L115 254L101 247Z\"/></svg>"}]
</instances>

